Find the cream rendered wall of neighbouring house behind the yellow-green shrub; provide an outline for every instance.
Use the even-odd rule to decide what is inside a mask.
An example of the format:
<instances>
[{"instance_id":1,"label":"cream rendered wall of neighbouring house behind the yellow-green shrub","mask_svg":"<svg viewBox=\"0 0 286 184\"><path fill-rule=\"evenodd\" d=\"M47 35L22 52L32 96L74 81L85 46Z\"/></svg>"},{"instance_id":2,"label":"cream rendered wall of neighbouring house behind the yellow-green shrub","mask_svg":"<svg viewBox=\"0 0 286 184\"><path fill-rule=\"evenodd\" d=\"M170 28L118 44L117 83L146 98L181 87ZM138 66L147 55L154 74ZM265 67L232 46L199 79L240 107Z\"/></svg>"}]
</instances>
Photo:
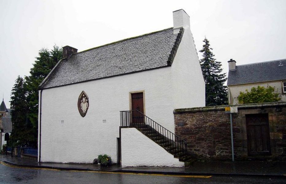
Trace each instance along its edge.
<instances>
[{"instance_id":1,"label":"cream rendered wall of neighbouring house behind the yellow-green shrub","mask_svg":"<svg viewBox=\"0 0 286 184\"><path fill-rule=\"evenodd\" d=\"M282 93L282 82L265 82L265 83L254 83L254 84L242 84L242 85L235 85L235 86L228 86L229 95L230 95L230 104L231 105L237 105L238 104L238 96L240 92L244 92L247 89L249 92L252 87L257 86L264 86L265 88L267 86L272 86L275 88L275 93L279 93L279 97L281 98L280 101L286 102L286 94Z\"/></svg>"}]
</instances>

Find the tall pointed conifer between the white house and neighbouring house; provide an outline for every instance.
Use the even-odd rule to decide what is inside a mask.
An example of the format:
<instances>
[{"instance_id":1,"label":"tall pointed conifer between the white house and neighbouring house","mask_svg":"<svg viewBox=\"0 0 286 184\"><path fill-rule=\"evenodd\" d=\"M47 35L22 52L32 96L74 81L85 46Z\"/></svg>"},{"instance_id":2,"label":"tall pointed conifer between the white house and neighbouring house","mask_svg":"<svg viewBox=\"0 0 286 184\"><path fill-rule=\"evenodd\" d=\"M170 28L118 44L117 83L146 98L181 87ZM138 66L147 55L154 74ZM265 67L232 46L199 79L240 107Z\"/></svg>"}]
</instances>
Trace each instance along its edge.
<instances>
[{"instance_id":1,"label":"tall pointed conifer between the white house and neighbouring house","mask_svg":"<svg viewBox=\"0 0 286 184\"><path fill-rule=\"evenodd\" d=\"M223 84L226 82L226 73L222 72L222 64L216 61L212 53L209 40L205 37L203 59L200 60L203 77L206 83L206 106L227 104L227 89Z\"/></svg>"}]
</instances>

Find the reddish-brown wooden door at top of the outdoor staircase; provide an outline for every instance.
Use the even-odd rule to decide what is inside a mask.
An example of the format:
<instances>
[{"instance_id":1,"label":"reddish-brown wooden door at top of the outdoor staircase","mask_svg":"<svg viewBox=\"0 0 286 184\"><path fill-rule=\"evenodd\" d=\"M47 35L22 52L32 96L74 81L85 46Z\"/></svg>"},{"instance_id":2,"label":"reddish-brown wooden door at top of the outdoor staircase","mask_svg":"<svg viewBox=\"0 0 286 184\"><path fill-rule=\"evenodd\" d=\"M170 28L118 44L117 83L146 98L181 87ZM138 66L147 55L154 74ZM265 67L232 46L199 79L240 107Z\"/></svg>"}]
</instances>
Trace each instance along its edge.
<instances>
[{"instance_id":1,"label":"reddish-brown wooden door at top of the outdoor staircase","mask_svg":"<svg viewBox=\"0 0 286 184\"><path fill-rule=\"evenodd\" d=\"M143 105L143 93L132 93L132 110L138 110L144 114L144 105ZM141 124L144 121L143 115L137 112L132 111L132 124Z\"/></svg>"}]
</instances>

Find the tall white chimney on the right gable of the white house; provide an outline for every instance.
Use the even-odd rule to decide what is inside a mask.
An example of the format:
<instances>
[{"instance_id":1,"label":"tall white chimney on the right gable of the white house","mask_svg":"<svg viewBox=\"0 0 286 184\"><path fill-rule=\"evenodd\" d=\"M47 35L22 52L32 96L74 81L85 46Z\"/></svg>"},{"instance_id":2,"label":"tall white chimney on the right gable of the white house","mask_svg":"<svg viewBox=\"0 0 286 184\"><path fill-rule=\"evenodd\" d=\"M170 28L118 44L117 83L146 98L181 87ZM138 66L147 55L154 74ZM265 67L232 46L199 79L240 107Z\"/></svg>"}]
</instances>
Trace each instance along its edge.
<instances>
[{"instance_id":1,"label":"tall white chimney on the right gable of the white house","mask_svg":"<svg viewBox=\"0 0 286 184\"><path fill-rule=\"evenodd\" d=\"M190 29L190 17L183 10L173 11L174 34L179 33L180 28Z\"/></svg>"}]
</instances>

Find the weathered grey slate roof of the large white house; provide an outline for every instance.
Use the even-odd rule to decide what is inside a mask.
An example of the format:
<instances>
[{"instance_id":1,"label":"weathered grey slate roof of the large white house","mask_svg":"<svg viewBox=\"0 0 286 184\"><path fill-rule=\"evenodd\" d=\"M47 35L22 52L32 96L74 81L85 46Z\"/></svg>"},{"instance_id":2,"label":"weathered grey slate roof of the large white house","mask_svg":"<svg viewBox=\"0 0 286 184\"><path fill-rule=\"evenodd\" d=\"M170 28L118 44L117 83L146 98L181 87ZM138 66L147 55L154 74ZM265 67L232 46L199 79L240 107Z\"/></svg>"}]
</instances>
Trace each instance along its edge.
<instances>
[{"instance_id":1,"label":"weathered grey slate roof of the large white house","mask_svg":"<svg viewBox=\"0 0 286 184\"><path fill-rule=\"evenodd\" d=\"M169 28L72 54L59 61L40 88L171 66L183 33Z\"/></svg>"}]
</instances>

